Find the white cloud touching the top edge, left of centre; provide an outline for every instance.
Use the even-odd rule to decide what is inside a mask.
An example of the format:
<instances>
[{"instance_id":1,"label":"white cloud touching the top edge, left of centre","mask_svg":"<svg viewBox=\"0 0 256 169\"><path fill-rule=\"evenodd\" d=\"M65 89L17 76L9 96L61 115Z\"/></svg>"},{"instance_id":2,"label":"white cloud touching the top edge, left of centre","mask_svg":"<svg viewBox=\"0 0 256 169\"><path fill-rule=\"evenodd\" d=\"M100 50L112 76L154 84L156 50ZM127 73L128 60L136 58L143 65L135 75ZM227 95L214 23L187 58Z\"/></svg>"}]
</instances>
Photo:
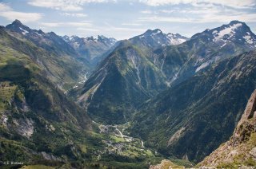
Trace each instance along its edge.
<instances>
[{"instance_id":1,"label":"white cloud touching the top edge, left of centre","mask_svg":"<svg viewBox=\"0 0 256 169\"><path fill-rule=\"evenodd\" d=\"M85 3L115 2L115 0L30 0L31 6L46 7L54 10L79 11Z\"/></svg>"}]
</instances>

